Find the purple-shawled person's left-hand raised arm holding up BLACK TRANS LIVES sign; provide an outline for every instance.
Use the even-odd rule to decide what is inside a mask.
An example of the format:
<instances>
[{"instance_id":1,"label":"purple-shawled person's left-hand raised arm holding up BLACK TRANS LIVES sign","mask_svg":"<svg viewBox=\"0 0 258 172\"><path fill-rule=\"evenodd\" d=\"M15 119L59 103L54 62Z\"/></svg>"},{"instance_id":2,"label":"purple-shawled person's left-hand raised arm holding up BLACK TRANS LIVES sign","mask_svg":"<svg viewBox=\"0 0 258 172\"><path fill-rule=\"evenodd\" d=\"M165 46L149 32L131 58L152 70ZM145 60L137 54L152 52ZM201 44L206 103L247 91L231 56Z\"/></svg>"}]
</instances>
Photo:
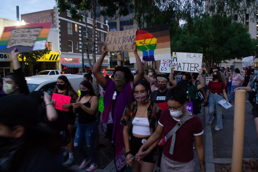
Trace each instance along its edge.
<instances>
[{"instance_id":1,"label":"purple-shawled person's left-hand raised arm holding up BLACK TRANS LIVES sign","mask_svg":"<svg viewBox=\"0 0 258 172\"><path fill-rule=\"evenodd\" d=\"M106 79L105 77L100 73L100 69L101 69L101 65L103 63L103 60L105 58L107 54L107 45L104 44L104 46L102 47L102 54L99 57L98 61L95 63L94 67L93 67L93 75L94 77L97 79L99 85L102 88L105 88L106 85Z\"/></svg>"}]
</instances>

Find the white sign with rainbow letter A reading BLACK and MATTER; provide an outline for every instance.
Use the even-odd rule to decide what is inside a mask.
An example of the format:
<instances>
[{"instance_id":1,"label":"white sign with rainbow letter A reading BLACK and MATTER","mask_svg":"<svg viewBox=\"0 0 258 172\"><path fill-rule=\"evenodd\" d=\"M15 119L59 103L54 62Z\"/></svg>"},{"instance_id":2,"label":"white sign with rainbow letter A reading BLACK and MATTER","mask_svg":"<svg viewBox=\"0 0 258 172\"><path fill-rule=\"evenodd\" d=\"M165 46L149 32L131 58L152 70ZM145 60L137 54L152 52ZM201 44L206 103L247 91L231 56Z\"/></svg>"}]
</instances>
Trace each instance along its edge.
<instances>
[{"instance_id":1,"label":"white sign with rainbow letter A reading BLACK and MATTER","mask_svg":"<svg viewBox=\"0 0 258 172\"><path fill-rule=\"evenodd\" d=\"M198 72L202 68L202 54L173 52L172 61L175 71Z\"/></svg>"}]
</instances>

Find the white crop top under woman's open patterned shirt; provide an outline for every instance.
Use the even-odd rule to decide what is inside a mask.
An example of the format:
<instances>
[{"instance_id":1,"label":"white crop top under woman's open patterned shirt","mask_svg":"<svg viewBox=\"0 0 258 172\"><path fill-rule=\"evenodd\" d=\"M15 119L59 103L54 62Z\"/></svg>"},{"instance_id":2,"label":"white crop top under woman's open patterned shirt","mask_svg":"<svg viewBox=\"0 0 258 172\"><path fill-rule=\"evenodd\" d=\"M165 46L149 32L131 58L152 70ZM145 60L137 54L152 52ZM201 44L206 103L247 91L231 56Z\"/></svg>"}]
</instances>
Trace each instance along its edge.
<instances>
[{"instance_id":1,"label":"white crop top under woman's open patterned shirt","mask_svg":"<svg viewBox=\"0 0 258 172\"><path fill-rule=\"evenodd\" d=\"M132 121L133 124L133 134L138 134L142 136L150 136L150 124L148 118L137 118L135 117Z\"/></svg>"}]
</instances>

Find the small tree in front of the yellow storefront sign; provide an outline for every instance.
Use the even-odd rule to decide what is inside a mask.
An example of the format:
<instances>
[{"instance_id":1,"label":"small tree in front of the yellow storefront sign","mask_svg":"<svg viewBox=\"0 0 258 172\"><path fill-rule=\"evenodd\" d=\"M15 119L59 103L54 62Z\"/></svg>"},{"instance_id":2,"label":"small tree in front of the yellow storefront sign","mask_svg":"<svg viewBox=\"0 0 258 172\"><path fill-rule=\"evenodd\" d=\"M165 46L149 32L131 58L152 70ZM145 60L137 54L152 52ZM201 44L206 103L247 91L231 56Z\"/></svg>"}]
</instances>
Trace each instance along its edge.
<instances>
[{"instance_id":1,"label":"small tree in front of the yellow storefront sign","mask_svg":"<svg viewBox=\"0 0 258 172\"><path fill-rule=\"evenodd\" d=\"M37 63L37 60L42 58L45 54L49 54L49 52L49 49L45 47L43 51L29 51L20 53L19 58L23 58L30 67L30 76L33 75L33 67Z\"/></svg>"}]
</instances>

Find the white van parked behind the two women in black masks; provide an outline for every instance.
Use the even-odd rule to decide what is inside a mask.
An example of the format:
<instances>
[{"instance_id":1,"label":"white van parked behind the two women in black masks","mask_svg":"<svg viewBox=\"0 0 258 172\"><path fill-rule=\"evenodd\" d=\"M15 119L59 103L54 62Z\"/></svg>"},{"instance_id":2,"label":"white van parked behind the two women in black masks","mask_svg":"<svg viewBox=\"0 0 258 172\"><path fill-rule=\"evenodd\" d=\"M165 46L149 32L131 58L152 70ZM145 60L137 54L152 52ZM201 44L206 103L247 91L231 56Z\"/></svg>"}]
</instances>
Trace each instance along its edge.
<instances>
[{"instance_id":1,"label":"white van parked behind the two women in black masks","mask_svg":"<svg viewBox=\"0 0 258 172\"><path fill-rule=\"evenodd\" d=\"M83 81L83 75L64 74L71 83L75 92L80 89L80 83ZM46 91L48 94L56 89L57 78L60 75L35 75L25 77L29 91Z\"/></svg>"}]
</instances>

